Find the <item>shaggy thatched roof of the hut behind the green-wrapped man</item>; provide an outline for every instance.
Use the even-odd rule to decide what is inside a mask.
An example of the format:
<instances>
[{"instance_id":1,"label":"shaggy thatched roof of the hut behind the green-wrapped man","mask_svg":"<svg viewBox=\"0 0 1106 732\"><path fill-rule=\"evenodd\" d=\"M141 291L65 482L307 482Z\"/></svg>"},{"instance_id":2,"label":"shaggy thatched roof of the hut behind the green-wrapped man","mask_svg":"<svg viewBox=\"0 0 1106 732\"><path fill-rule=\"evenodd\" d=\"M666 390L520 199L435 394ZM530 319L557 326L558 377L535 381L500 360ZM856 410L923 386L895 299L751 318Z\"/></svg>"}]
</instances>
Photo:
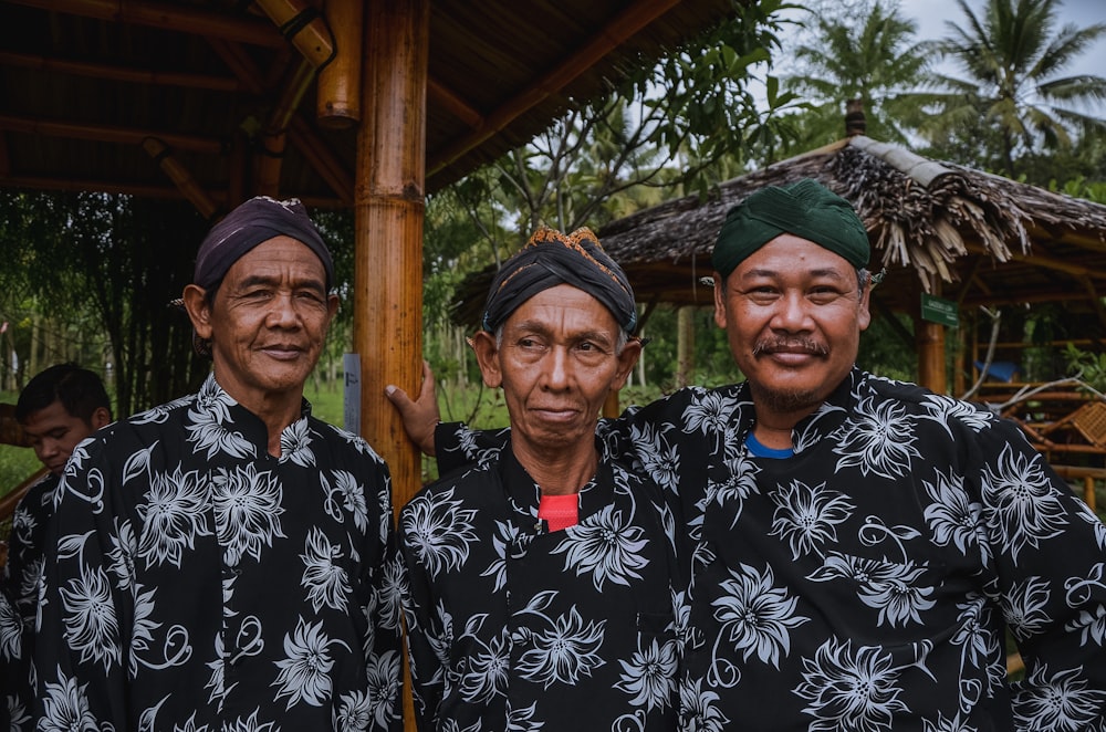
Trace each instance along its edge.
<instances>
[{"instance_id":1,"label":"shaggy thatched roof of the hut behind the green-wrapped man","mask_svg":"<svg viewBox=\"0 0 1106 732\"><path fill-rule=\"evenodd\" d=\"M765 185L815 178L848 199L886 268L873 296L912 312L919 292L961 306L1083 300L1106 294L1106 206L1053 194L863 135L720 184L709 200L680 198L596 233L638 302L707 305L710 252L727 210ZM457 320L476 322L491 272L459 290Z\"/></svg>"}]
</instances>

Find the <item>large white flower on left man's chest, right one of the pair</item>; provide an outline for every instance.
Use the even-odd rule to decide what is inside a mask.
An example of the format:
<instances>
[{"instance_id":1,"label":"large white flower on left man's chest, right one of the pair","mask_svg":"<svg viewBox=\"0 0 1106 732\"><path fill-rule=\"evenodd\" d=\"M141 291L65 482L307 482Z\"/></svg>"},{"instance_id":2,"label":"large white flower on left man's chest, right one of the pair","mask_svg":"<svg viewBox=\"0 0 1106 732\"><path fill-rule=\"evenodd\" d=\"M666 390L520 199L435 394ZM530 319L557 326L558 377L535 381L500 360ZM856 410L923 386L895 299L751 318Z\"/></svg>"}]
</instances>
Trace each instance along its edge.
<instances>
[{"instance_id":1,"label":"large white flower on left man's chest, right one of the pair","mask_svg":"<svg viewBox=\"0 0 1106 732\"><path fill-rule=\"evenodd\" d=\"M276 475L258 472L253 463L220 468L211 477L215 524L226 562L237 566L243 556L261 557L273 538L284 538L280 516L283 491Z\"/></svg>"}]
</instances>

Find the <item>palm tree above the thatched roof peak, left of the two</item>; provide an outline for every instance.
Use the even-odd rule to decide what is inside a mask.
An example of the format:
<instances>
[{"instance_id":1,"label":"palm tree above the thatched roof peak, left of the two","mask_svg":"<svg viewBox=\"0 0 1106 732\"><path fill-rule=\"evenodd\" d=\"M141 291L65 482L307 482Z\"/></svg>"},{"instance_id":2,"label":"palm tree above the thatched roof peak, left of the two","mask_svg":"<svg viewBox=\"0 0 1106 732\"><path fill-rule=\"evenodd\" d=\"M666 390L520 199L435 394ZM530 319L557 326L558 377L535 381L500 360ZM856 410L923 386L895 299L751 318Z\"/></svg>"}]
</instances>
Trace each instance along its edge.
<instances>
[{"instance_id":1,"label":"palm tree above the thatched roof peak, left of the two","mask_svg":"<svg viewBox=\"0 0 1106 732\"><path fill-rule=\"evenodd\" d=\"M854 98L864 104L873 137L907 143L921 106L914 90L924 85L929 67L925 44L915 41L917 23L901 17L896 3L879 0L826 3L815 13L808 35L816 40L794 52L803 72L786 80L810 101L808 112L796 119L805 130L802 144L842 137L845 105Z\"/></svg>"}]
</instances>

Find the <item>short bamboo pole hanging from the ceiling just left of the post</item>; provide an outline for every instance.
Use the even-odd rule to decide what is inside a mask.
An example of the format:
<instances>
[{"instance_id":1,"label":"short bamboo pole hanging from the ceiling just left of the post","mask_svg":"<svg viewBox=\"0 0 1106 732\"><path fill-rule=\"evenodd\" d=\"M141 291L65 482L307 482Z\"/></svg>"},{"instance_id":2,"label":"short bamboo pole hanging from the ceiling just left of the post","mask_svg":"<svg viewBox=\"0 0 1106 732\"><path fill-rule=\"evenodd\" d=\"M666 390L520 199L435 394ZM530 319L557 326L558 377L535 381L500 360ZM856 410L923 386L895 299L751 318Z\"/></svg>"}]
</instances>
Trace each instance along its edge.
<instances>
[{"instance_id":1,"label":"short bamboo pole hanging from the ceiling just left of the post","mask_svg":"<svg viewBox=\"0 0 1106 732\"><path fill-rule=\"evenodd\" d=\"M319 124L346 128L361 119L362 0L327 0L326 24L334 34L334 60L319 72Z\"/></svg>"}]
</instances>

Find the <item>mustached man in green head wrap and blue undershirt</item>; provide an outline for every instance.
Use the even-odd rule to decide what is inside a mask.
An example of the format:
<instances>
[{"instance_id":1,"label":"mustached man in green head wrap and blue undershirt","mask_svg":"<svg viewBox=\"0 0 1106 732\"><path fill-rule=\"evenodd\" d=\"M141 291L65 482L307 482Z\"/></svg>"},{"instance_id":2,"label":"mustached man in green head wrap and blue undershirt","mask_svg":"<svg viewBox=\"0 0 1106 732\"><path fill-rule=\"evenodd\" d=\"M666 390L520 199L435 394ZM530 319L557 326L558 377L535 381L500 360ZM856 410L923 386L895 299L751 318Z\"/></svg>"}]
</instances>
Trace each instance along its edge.
<instances>
[{"instance_id":1,"label":"mustached man in green head wrap and blue undershirt","mask_svg":"<svg viewBox=\"0 0 1106 732\"><path fill-rule=\"evenodd\" d=\"M681 723L1106 730L1106 527L1013 422L854 365L870 278L848 203L760 190L713 263L745 380L603 425L682 520Z\"/></svg>"}]
</instances>

